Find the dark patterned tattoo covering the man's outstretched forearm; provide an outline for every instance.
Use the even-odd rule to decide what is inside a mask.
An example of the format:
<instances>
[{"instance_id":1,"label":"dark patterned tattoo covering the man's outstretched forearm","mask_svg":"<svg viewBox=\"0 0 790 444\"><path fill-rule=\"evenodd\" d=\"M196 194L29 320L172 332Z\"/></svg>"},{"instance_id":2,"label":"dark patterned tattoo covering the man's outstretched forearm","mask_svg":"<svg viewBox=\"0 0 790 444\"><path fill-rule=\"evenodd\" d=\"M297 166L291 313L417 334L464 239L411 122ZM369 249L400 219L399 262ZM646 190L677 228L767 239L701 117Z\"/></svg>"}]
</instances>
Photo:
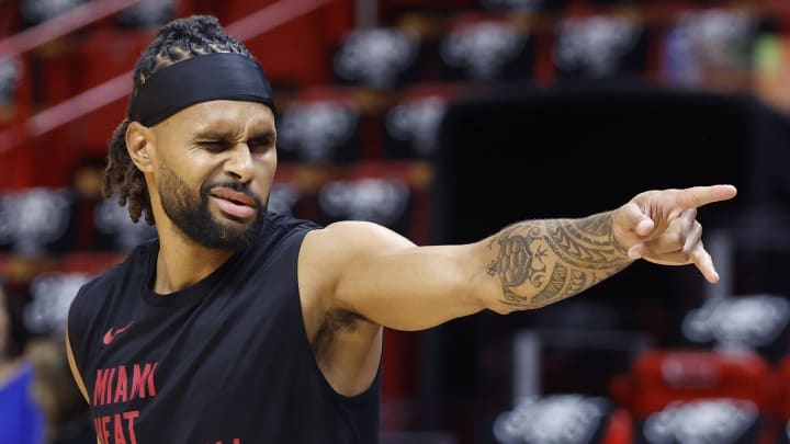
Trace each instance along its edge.
<instances>
[{"instance_id":1,"label":"dark patterned tattoo covering the man's outstretched forearm","mask_svg":"<svg viewBox=\"0 0 790 444\"><path fill-rule=\"evenodd\" d=\"M631 263L614 240L611 213L583 219L528 220L495 235L486 272L499 278L500 303L541 307L573 296Z\"/></svg>"}]
</instances>

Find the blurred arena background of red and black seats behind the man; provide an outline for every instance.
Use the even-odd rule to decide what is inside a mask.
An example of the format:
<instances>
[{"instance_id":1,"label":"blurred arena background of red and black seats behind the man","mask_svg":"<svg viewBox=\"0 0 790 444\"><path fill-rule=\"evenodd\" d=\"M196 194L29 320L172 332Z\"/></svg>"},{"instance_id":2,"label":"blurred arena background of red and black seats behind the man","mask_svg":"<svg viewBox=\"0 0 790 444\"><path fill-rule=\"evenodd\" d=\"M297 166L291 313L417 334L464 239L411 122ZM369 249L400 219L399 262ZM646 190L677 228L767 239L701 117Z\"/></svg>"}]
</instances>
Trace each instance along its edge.
<instances>
[{"instance_id":1,"label":"blurred arena background of red and black seats behind the man","mask_svg":"<svg viewBox=\"0 0 790 444\"><path fill-rule=\"evenodd\" d=\"M153 228L101 194L134 62L213 14L282 110L271 208L417 243L732 183L722 281L635 263L583 296L385 332L383 444L790 441L789 0L0 0L0 443L95 442L71 298Z\"/></svg>"}]
</instances>

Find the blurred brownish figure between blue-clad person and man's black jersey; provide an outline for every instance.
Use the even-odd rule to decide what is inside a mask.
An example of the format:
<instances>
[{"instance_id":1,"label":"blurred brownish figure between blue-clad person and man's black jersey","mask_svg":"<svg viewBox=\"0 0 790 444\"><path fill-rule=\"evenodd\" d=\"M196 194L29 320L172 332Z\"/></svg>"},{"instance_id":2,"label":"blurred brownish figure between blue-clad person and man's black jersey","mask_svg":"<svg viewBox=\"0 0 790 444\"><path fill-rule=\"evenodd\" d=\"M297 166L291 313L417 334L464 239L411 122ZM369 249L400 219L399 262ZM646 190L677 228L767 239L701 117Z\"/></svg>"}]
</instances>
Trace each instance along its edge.
<instances>
[{"instance_id":1,"label":"blurred brownish figure between blue-clad person and man's black jersey","mask_svg":"<svg viewBox=\"0 0 790 444\"><path fill-rule=\"evenodd\" d=\"M71 378L61 335L32 340L25 355L35 369L33 396L45 414L45 444L97 442L90 410Z\"/></svg>"}]
</instances>

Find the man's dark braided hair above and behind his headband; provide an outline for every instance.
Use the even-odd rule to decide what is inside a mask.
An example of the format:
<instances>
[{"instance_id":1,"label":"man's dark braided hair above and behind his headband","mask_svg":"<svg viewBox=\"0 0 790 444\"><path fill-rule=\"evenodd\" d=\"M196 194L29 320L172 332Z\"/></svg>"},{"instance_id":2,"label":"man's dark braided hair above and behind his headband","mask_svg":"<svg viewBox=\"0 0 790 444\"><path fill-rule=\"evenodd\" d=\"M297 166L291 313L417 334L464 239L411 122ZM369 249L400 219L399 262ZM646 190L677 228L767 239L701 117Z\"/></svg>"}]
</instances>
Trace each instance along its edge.
<instances>
[{"instance_id":1,"label":"man's dark braided hair above and behind his headband","mask_svg":"<svg viewBox=\"0 0 790 444\"><path fill-rule=\"evenodd\" d=\"M161 68L212 53L235 53L255 59L249 49L225 33L216 18L192 15L176 19L163 25L154 41L143 52L134 70L132 94L150 76ZM119 205L128 205L129 216L135 223L145 214L148 225L154 225L150 196L145 177L132 162L126 150L126 128L129 119L124 118L110 139L108 164L104 170L104 196L119 193Z\"/></svg>"}]
</instances>

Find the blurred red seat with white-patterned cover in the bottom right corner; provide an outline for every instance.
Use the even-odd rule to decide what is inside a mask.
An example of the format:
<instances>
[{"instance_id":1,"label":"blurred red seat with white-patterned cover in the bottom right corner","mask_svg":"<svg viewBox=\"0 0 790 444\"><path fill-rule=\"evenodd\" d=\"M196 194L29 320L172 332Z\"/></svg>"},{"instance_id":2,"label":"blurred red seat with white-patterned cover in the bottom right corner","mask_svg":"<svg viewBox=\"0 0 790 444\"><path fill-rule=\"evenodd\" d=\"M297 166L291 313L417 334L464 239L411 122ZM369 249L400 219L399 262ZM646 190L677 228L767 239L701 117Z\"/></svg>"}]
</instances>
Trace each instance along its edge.
<instances>
[{"instance_id":1,"label":"blurred red seat with white-patterned cover in the bottom right corner","mask_svg":"<svg viewBox=\"0 0 790 444\"><path fill-rule=\"evenodd\" d=\"M768 362L753 351L653 350L614 377L610 392L633 418L633 444L767 444L774 382Z\"/></svg>"}]
</instances>

